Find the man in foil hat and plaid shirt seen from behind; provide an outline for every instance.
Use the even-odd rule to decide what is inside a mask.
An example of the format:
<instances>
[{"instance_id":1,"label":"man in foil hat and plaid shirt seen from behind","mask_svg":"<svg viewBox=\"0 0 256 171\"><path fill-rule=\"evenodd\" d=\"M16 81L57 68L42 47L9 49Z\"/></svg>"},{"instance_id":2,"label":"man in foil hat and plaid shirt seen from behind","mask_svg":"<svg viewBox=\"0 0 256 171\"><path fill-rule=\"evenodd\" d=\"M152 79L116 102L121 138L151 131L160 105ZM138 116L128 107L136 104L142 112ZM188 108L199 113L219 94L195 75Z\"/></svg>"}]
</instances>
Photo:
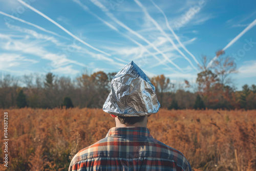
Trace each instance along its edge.
<instances>
[{"instance_id":1,"label":"man in foil hat and plaid shirt seen from behind","mask_svg":"<svg viewBox=\"0 0 256 171\"><path fill-rule=\"evenodd\" d=\"M115 118L105 138L81 149L72 159L71 170L181 170L191 167L184 155L154 139L147 117L160 104L155 87L133 62L124 66L111 81L111 93L103 111Z\"/></svg>"}]
</instances>

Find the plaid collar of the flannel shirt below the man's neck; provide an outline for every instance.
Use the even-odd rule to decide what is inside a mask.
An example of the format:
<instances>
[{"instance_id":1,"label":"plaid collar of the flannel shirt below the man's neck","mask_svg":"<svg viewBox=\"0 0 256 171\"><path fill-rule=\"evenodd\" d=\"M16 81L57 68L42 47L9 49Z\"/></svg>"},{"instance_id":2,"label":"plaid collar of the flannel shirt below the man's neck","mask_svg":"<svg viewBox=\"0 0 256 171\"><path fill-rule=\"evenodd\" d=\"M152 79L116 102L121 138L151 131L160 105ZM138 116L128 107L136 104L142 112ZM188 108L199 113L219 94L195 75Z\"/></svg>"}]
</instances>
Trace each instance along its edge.
<instances>
[{"instance_id":1,"label":"plaid collar of the flannel shirt below the man's neck","mask_svg":"<svg viewBox=\"0 0 256 171\"><path fill-rule=\"evenodd\" d=\"M106 137L152 137L147 127L112 127Z\"/></svg>"}]
</instances>

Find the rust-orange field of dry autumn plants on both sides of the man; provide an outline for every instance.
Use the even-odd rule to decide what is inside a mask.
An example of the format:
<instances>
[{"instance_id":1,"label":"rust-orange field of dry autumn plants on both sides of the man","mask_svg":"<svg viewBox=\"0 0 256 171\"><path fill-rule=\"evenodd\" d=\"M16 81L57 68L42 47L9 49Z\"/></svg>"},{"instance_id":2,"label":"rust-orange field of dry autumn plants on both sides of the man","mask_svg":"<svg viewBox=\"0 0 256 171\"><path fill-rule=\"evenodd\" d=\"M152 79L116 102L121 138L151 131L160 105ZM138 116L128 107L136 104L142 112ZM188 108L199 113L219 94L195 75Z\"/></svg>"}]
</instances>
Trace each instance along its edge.
<instances>
[{"instance_id":1,"label":"rust-orange field of dry autumn plants on both sides of the man","mask_svg":"<svg viewBox=\"0 0 256 171\"><path fill-rule=\"evenodd\" d=\"M105 137L114 119L101 109L0 109L8 112L8 169L67 170L82 148ZM182 152L193 170L255 170L256 111L160 110L148 118L159 141ZM4 138L4 131L1 133Z\"/></svg>"}]
</instances>

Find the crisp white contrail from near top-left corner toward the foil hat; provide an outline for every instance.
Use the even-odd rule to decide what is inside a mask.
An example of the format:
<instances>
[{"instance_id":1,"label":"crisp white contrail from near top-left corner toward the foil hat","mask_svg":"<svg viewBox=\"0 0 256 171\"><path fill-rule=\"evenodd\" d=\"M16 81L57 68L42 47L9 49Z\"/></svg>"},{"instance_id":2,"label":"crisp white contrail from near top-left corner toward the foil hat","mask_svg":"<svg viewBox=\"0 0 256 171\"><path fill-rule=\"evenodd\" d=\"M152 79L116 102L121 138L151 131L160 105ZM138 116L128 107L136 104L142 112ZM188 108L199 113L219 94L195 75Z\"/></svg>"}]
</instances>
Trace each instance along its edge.
<instances>
[{"instance_id":1,"label":"crisp white contrail from near top-left corner toward the foil hat","mask_svg":"<svg viewBox=\"0 0 256 171\"><path fill-rule=\"evenodd\" d=\"M42 17L46 18L47 20L49 20L50 22L52 22L54 25L56 25L57 27L59 27L61 30L65 31L66 33L68 33L70 36L72 36L73 38L77 39L78 41L80 41L82 44L94 49L95 51L98 51L100 53L103 53L105 55L111 56L110 54L101 51L93 46L91 46L90 44L88 44L87 42L81 40L80 38L78 38L77 36L75 36L74 34L72 34L71 32L69 32L67 29L63 28L61 25L59 25L58 23L56 23L53 19L51 19L50 17L48 17L47 15L41 13L40 11L38 11L37 9L31 7L30 5L26 4L25 2L23 2L22 0L17 0L19 3L23 4L24 6L30 8L31 10L33 10L34 12L36 12L37 14L41 15Z\"/></svg>"}]
</instances>

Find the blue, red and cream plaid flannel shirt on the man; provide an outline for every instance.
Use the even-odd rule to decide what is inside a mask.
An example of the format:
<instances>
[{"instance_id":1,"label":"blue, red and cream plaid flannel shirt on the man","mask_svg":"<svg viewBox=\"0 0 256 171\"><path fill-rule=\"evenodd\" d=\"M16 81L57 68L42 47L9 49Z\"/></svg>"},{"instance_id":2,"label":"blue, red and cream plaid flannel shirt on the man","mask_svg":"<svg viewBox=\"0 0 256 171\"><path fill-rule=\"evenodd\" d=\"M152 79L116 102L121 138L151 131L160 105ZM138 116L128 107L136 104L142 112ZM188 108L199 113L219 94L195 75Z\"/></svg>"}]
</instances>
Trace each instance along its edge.
<instances>
[{"instance_id":1,"label":"blue, red and cream plaid flannel shirt on the man","mask_svg":"<svg viewBox=\"0 0 256 171\"><path fill-rule=\"evenodd\" d=\"M113 127L105 138L81 149L71 170L190 171L184 155L154 139L146 127Z\"/></svg>"}]
</instances>

